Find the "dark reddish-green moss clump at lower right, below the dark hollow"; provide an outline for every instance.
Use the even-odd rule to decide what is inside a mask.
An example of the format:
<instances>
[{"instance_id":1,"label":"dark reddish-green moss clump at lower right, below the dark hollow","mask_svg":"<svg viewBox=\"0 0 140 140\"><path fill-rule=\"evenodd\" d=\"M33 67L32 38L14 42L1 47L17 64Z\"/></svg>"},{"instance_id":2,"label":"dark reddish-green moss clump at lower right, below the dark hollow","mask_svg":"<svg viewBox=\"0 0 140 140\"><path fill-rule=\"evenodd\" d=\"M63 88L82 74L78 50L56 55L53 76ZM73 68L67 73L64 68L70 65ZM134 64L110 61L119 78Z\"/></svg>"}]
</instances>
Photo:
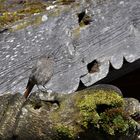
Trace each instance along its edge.
<instances>
[{"instance_id":1,"label":"dark reddish-green moss clump at lower right, below the dark hollow","mask_svg":"<svg viewBox=\"0 0 140 140\"><path fill-rule=\"evenodd\" d=\"M136 128L136 123L121 108L106 110L100 114L100 118L101 129L110 135L126 135Z\"/></svg>"}]
</instances>

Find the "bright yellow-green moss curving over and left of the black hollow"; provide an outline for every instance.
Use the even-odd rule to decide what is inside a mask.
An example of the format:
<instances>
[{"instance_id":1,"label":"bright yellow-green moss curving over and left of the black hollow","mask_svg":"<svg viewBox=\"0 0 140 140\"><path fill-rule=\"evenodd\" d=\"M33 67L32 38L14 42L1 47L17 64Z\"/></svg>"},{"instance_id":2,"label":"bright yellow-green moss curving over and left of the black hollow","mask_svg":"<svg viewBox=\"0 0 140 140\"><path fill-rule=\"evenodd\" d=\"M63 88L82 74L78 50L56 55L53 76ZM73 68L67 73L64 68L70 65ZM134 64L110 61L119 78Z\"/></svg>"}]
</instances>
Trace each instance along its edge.
<instances>
[{"instance_id":1,"label":"bright yellow-green moss curving over and left of the black hollow","mask_svg":"<svg viewBox=\"0 0 140 140\"><path fill-rule=\"evenodd\" d=\"M111 91L86 91L86 95L77 103L82 115L82 125L88 128L89 123L98 127L100 116L96 111L98 105L108 105L110 107L118 107L124 104L121 96Z\"/></svg>"}]
</instances>

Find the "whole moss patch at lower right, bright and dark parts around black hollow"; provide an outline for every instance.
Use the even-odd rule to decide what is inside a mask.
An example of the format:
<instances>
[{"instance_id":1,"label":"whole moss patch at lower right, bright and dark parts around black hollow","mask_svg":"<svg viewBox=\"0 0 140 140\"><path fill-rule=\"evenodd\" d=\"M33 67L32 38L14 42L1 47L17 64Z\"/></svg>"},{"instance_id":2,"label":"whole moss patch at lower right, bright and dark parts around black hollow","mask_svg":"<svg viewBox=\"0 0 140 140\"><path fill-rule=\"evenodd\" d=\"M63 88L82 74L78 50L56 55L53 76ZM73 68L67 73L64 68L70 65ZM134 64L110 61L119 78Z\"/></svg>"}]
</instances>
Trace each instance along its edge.
<instances>
[{"instance_id":1,"label":"whole moss patch at lower right, bright and dark parts around black hollow","mask_svg":"<svg viewBox=\"0 0 140 140\"><path fill-rule=\"evenodd\" d=\"M89 90L77 106L85 129L92 126L110 135L128 134L130 128L135 129L136 124L122 109L123 98L114 91Z\"/></svg>"}]
</instances>

